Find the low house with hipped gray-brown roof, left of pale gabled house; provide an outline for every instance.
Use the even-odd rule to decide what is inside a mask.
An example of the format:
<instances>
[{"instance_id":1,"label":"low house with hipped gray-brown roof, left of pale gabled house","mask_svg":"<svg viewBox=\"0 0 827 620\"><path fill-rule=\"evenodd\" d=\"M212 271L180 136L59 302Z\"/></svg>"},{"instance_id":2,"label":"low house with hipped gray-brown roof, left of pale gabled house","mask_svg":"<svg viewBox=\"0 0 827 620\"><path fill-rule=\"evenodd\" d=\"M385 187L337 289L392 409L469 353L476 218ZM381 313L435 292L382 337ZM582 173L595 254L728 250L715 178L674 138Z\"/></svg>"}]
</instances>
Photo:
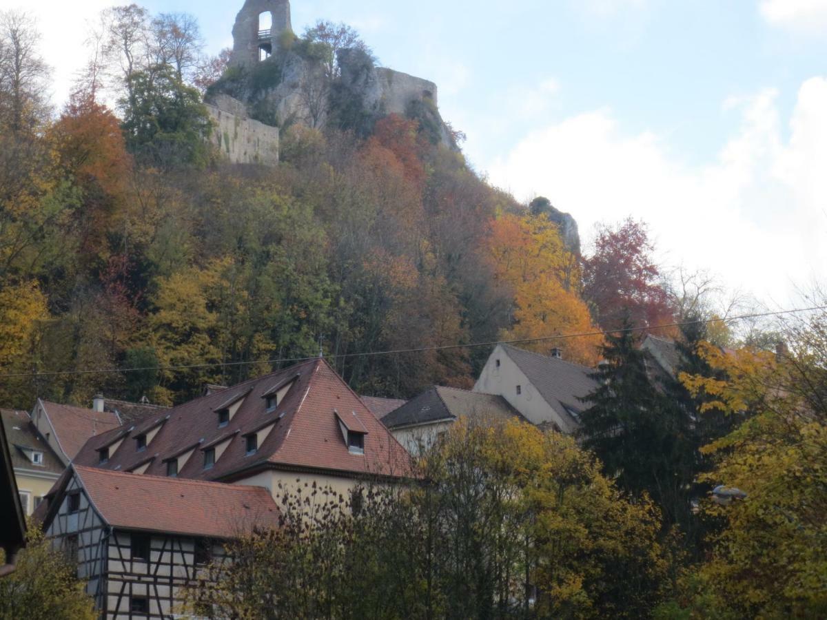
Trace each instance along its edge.
<instances>
[{"instance_id":1,"label":"low house with hipped gray-brown roof, left of pale gabled house","mask_svg":"<svg viewBox=\"0 0 827 620\"><path fill-rule=\"evenodd\" d=\"M417 455L433 446L460 417L482 423L525 421L502 396L437 385L385 415L382 423L409 453Z\"/></svg>"}]
</instances>

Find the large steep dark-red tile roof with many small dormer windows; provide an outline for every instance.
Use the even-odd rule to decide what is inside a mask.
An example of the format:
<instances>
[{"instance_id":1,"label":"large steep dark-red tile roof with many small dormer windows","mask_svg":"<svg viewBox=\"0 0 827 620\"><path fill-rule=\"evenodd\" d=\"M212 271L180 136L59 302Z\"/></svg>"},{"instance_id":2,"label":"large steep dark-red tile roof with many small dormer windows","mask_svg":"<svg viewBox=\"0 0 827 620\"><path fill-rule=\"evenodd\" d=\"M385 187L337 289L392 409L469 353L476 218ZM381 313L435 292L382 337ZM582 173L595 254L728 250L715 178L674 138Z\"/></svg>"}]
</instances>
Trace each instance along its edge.
<instances>
[{"instance_id":1,"label":"large steep dark-red tile roof with many small dormer windows","mask_svg":"<svg viewBox=\"0 0 827 620\"><path fill-rule=\"evenodd\" d=\"M297 376L298 375L298 376ZM275 410L268 412L266 399L275 384L289 377L295 381ZM225 427L218 427L216 409L245 394L243 402ZM336 413L358 422L367 432L365 454L348 450ZM169 417L146 451L137 452L134 437ZM272 422L272 431L253 455L246 454L245 436ZM108 445L117 431L88 441L78 455L79 465L98 465L97 449ZM203 469L205 447L222 439L229 445L209 470ZM136 425L122 444L109 455L105 469L129 470L148 456L157 455L148 475L165 475L164 460L179 454L183 446L198 444L194 454L179 465L180 478L237 479L257 470L276 468L325 470L336 475L408 475L408 453L374 417L365 403L324 360L313 360L279 372L251 379L244 384L197 398L166 411L163 416Z\"/></svg>"}]
</instances>

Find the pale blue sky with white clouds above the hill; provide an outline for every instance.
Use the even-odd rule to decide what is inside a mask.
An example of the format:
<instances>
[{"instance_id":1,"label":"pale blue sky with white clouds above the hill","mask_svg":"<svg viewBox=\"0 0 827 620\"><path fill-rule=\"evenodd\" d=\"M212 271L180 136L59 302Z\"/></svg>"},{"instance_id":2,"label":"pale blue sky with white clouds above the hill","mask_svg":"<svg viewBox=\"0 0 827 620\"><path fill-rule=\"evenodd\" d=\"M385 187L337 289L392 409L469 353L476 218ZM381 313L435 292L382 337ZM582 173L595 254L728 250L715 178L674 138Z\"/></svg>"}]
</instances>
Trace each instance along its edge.
<instances>
[{"instance_id":1,"label":"pale blue sky with white clouds above the hill","mask_svg":"<svg viewBox=\"0 0 827 620\"><path fill-rule=\"evenodd\" d=\"M0 7L20 5L0 0ZM53 96L111 4L43 0ZM237 2L146 0L232 45ZM437 83L471 165L595 226L648 224L667 269L791 307L827 279L827 0L294 0L293 26L356 27L380 63Z\"/></svg>"}]
</instances>

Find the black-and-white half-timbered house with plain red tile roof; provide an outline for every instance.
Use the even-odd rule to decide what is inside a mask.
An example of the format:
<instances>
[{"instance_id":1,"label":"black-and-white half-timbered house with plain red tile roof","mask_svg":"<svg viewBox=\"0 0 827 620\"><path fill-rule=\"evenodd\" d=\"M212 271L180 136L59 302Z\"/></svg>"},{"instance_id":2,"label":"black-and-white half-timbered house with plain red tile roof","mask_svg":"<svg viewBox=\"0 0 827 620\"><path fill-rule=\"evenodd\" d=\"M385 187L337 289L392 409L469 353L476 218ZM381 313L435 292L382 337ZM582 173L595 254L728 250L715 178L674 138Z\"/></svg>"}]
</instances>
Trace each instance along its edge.
<instances>
[{"instance_id":1,"label":"black-and-white half-timbered house with plain red tile roof","mask_svg":"<svg viewBox=\"0 0 827 620\"><path fill-rule=\"evenodd\" d=\"M227 540L279 516L267 489L69 465L43 527L102 618L170 618Z\"/></svg>"}]
</instances>

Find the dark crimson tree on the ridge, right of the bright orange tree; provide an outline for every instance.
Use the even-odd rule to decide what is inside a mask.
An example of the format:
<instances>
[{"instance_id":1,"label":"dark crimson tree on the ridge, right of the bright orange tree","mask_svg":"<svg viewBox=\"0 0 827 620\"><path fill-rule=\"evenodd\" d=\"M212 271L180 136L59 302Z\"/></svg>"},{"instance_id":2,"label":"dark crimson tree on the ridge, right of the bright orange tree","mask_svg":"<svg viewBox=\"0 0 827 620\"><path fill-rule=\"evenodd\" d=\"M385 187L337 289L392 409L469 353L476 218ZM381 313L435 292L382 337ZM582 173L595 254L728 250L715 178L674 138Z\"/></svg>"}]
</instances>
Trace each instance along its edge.
<instances>
[{"instance_id":1,"label":"dark crimson tree on the ridge, right of the bright orange tree","mask_svg":"<svg viewBox=\"0 0 827 620\"><path fill-rule=\"evenodd\" d=\"M614 227L598 227L593 253L583 263L583 296L600 327L616 329L626 315L642 328L672 322L653 251L643 222L630 218Z\"/></svg>"}]
</instances>

